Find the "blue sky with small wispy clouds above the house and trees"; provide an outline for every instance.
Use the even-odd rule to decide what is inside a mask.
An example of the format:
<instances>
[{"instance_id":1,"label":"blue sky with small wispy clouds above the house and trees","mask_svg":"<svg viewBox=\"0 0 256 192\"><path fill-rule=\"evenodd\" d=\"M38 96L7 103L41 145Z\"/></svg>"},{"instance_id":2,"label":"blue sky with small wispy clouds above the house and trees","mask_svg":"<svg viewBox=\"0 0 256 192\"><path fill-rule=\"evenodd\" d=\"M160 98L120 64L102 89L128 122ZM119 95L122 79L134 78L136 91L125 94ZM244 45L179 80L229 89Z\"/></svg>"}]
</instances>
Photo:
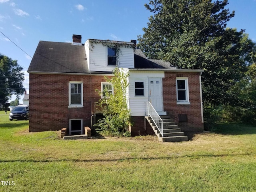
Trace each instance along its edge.
<instances>
[{"instance_id":1,"label":"blue sky with small wispy clouds above the house and trees","mask_svg":"<svg viewBox=\"0 0 256 192\"><path fill-rule=\"evenodd\" d=\"M24 68L26 73L38 42L72 42L72 34L88 38L130 41L143 34L151 13L149 0L0 0L0 53ZM256 41L256 0L229 0L235 17L227 27L245 29ZM12 40L14 45L6 36ZM26 53L28 54L26 54ZM21 96L22 100L23 96ZM14 100L15 97L12 98ZM22 103L22 101L21 101Z\"/></svg>"}]
</instances>

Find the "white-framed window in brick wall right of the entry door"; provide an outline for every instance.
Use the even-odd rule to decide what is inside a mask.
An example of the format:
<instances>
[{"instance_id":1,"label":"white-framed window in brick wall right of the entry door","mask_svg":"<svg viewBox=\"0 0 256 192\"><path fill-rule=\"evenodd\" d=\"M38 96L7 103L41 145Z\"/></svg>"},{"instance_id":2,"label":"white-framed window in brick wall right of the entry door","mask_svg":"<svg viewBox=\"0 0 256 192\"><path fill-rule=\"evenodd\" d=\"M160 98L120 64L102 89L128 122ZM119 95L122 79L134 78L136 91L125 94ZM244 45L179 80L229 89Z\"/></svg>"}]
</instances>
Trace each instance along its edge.
<instances>
[{"instance_id":1,"label":"white-framed window in brick wall right of the entry door","mask_svg":"<svg viewBox=\"0 0 256 192\"><path fill-rule=\"evenodd\" d=\"M190 104L188 94L188 78L176 78L177 104Z\"/></svg>"}]
</instances>

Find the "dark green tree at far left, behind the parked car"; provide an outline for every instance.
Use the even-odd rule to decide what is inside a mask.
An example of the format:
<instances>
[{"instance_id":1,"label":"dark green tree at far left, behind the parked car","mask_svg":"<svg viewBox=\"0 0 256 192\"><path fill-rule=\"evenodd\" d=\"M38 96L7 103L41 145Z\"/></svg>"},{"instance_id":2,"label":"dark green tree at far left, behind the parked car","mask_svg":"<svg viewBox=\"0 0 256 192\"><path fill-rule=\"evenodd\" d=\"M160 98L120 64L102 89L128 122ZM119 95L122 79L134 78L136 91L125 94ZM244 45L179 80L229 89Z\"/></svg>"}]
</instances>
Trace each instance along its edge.
<instances>
[{"instance_id":1,"label":"dark green tree at far left, behind the parked car","mask_svg":"<svg viewBox=\"0 0 256 192\"><path fill-rule=\"evenodd\" d=\"M6 105L13 94L23 94L25 89L23 68L18 65L17 60L0 54L0 104Z\"/></svg>"}]
</instances>

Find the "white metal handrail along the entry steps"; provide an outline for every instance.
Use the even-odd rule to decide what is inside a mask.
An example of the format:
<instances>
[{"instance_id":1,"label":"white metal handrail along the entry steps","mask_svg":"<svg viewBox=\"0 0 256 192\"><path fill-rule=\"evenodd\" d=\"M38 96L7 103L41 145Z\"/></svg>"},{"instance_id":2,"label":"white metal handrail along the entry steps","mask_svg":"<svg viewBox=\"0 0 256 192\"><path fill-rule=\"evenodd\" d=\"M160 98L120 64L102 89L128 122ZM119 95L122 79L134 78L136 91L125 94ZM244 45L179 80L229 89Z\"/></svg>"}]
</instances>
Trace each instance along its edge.
<instances>
[{"instance_id":1,"label":"white metal handrail along the entry steps","mask_svg":"<svg viewBox=\"0 0 256 192\"><path fill-rule=\"evenodd\" d=\"M164 136L162 118L158 115L158 113L156 112L156 110L154 109L154 107L152 106L152 104L149 101L146 104L146 108L147 108L146 109L147 115L151 117L151 119L155 123L156 127L160 131L161 135Z\"/></svg>"}]
</instances>

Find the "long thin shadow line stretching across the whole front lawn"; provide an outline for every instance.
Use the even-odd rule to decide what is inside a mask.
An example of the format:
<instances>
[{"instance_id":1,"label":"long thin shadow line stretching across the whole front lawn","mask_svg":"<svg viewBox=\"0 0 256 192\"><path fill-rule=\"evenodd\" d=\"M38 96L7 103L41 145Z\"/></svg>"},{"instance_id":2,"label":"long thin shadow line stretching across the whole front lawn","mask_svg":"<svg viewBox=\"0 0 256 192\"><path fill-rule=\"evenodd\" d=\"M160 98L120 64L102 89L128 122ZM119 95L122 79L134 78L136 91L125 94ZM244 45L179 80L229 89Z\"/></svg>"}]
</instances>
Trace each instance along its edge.
<instances>
[{"instance_id":1,"label":"long thin shadow line stretching across the whole front lawn","mask_svg":"<svg viewBox=\"0 0 256 192\"><path fill-rule=\"evenodd\" d=\"M173 156L166 156L166 157L148 157L148 158L117 158L117 159L47 159L47 160L0 160L0 163L8 163L8 162L34 162L34 163L40 163L40 162L62 162L62 161L67 161L67 162L115 162L115 161L140 161L140 160L172 160L172 159L177 159L177 158L202 158L202 157L210 157L210 158L215 158L215 157L226 157L226 156L255 156L256 154L253 153L243 153L243 154L200 154L200 155L184 155L184 156L179 156L179 155L173 155Z\"/></svg>"}]
</instances>

